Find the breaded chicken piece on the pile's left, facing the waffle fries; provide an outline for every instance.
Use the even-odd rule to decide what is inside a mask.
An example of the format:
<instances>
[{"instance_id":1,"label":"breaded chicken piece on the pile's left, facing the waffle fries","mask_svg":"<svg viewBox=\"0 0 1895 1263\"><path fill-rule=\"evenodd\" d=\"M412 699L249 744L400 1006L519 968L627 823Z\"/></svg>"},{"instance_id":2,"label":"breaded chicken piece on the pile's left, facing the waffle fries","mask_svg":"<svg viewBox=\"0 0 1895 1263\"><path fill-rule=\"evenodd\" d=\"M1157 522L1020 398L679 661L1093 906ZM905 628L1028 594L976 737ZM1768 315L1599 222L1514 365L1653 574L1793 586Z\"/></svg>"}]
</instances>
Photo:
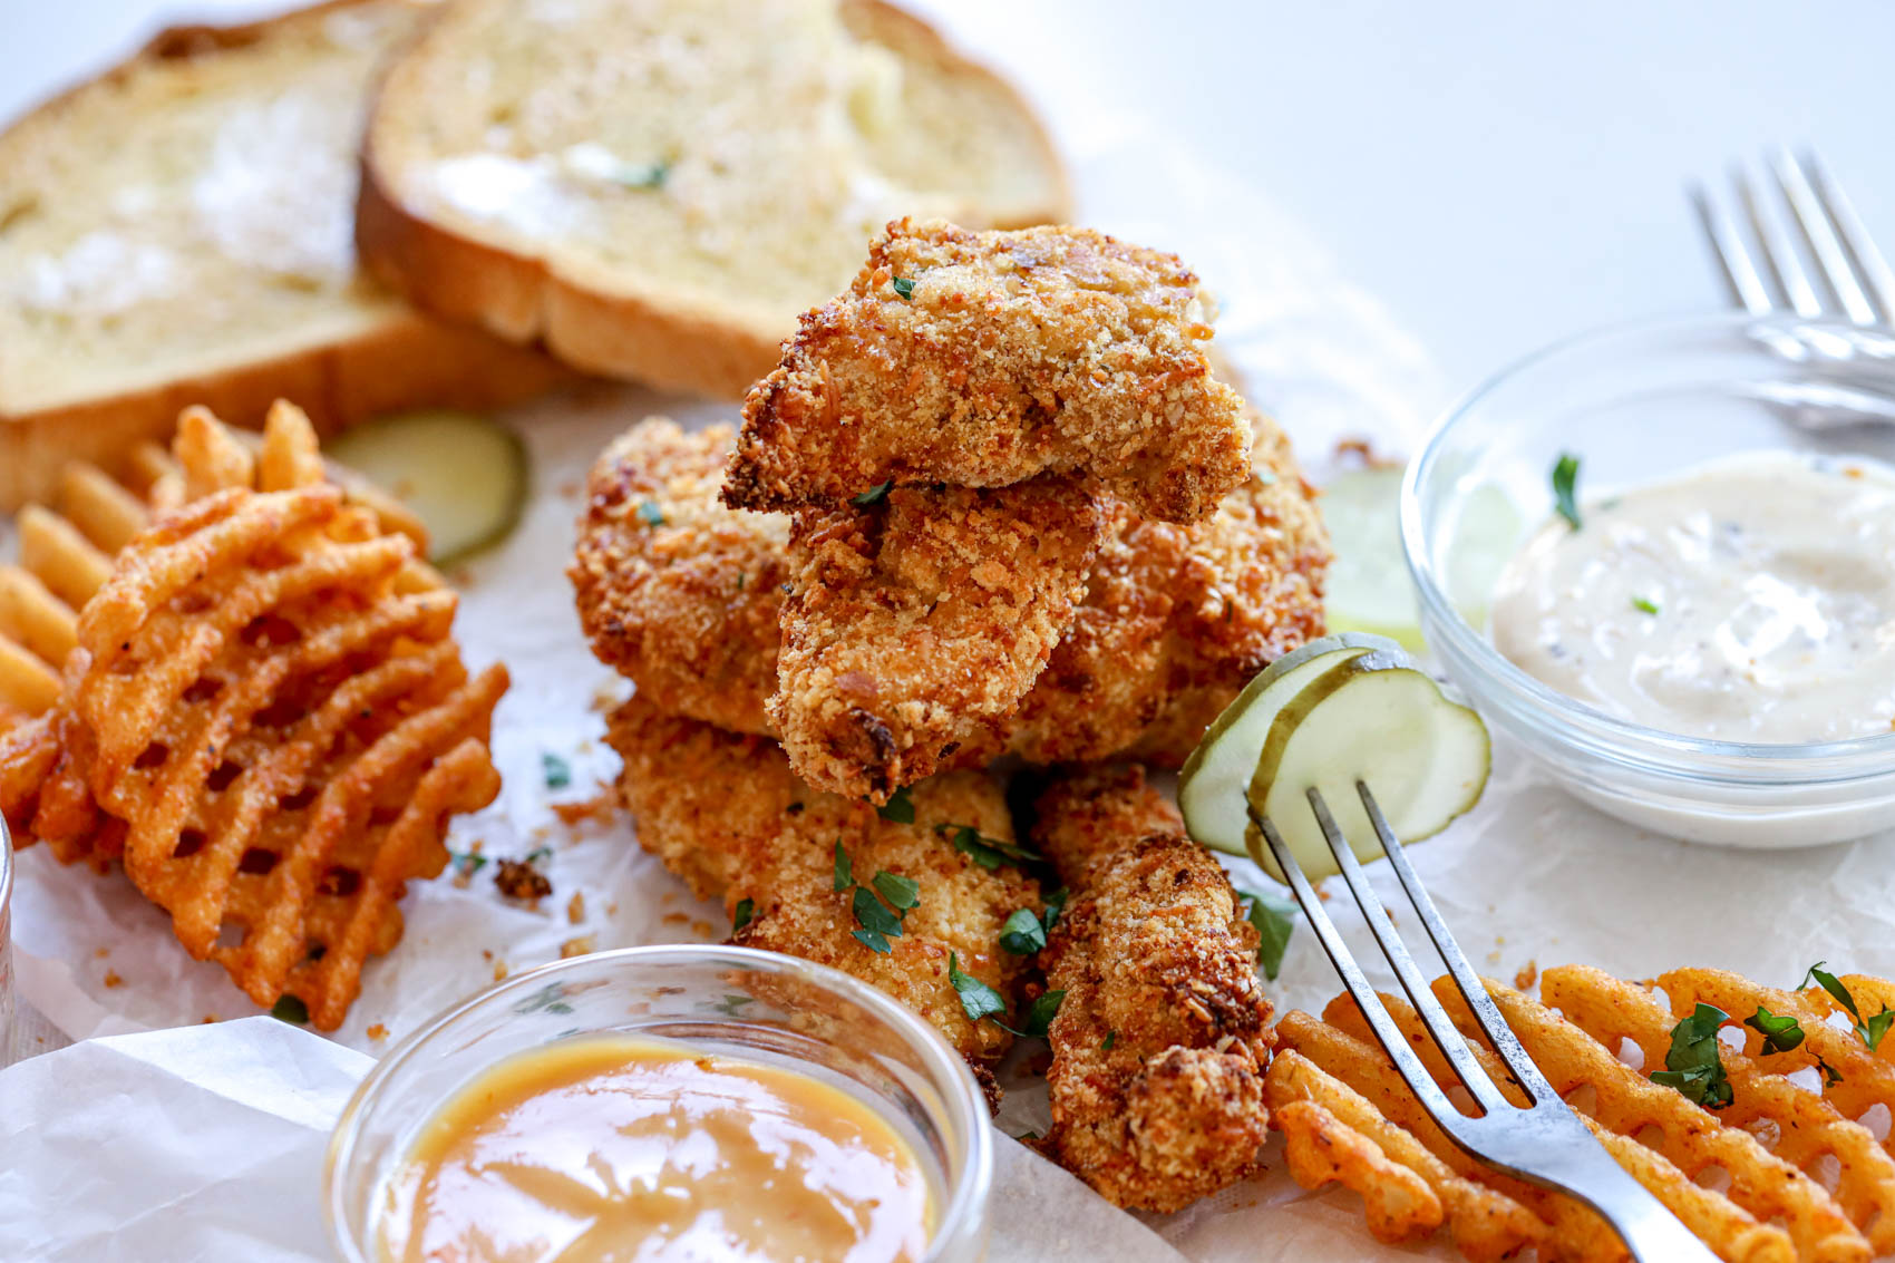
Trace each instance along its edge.
<instances>
[{"instance_id":1,"label":"breaded chicken piece on the pile's left, facing the waffle fries","mask_svg":"<svg viewBox=\"0 0 1895 1263\"><path fill-rule=\"evenodd\" d=\"M614 440L591 468L567 575L593 652L639 692L767 732L790 522L718 503L733 434L648 417Z\"/></svg>"}]
</instances>

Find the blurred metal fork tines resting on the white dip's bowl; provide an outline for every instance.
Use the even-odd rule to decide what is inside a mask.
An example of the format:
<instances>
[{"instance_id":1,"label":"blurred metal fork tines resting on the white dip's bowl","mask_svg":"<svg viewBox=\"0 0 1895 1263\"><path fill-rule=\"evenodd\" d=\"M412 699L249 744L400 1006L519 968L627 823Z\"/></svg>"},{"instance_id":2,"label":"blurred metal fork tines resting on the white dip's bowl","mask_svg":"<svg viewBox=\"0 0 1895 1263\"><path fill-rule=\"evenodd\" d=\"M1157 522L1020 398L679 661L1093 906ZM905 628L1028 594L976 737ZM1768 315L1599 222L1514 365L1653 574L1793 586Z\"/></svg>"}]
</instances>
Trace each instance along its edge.
<instances>
[{"instance_id":1,"label":"blurred metal fork tines resting on the white dip's bowl","mask_svg":"<svg viewBox=\"0 0 1895 1263\"><path fill-rule=\"evenodd\" d=\"M1730 171L1730 184L1757 239L1760 264L1745 245L1738 218L1721 209L1704 184L1690 186L1690 201L1732 302L1751 315L1789 309L1821 317L1840 309L1851 324L1889 324L1895 319L1895 269L1889 269L1829 167L1808 150L1798 157L1787 148L1770 154L1766 167L1779 207L1787 209L1796 237L1815 264L1815 277L1804 267L1781 209L1766 209L1751 173L1738 165Z\"/></svg>"}]
</instances>

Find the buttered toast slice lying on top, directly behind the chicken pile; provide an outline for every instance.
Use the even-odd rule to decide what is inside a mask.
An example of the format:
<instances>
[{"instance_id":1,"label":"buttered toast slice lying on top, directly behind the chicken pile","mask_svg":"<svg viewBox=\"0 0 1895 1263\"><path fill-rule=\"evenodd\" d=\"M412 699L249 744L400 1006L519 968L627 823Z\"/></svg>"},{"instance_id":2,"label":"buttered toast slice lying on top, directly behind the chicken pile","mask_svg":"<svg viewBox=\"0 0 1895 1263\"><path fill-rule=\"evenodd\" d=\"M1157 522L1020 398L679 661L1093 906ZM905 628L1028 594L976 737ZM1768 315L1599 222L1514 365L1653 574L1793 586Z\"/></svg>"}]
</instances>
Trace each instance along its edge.
<instances>
[{"instance_id":1,"label":"buttered toast slice lying on top, directly behind the chicken pile","mask_svg":"<svg viewBox=\"0 0 1895 1263\"><path fill-rule=\"evenodd\" d=\"M430 311L735 398L885 220L1067 201L1014 89L879 0L462 0L383 82L356 241Z\"/></svg>"}]
</instances>

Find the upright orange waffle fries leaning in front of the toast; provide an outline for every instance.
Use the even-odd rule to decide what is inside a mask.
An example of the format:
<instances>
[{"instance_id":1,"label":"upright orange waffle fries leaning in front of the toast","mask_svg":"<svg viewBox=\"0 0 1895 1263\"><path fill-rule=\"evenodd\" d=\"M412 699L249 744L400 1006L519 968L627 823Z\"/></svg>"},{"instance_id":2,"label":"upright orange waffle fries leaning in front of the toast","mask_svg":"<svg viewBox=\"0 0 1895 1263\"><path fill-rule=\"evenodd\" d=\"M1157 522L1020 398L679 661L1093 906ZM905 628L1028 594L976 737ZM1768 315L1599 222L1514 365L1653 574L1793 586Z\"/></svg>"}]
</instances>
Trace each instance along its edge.
<instances>
[{"instance_id":1,"label":"upright orange waffle fries leaning in front of the toast","mask_svg":"<svg viewBox=\"0 0 1895 1263\"><path fill-rule=\"evenodd\" d=\"M51 645L64 611L76 645L51 709L0 736L0 808L61 861L121 859L193 956L334 1030L366 958L402 937L406 884L447 863L447 819L498 793L506 671L468 675L455 595L328 480L298 410L279 404L254 453L193 410L174 451L133 482L150 503L203 495L136 531L95 590L87 550L146 514L127 487L78 472L68 516L42 510L23 548L80 613L0 624Z\"/></svg>"}]
</instances>

